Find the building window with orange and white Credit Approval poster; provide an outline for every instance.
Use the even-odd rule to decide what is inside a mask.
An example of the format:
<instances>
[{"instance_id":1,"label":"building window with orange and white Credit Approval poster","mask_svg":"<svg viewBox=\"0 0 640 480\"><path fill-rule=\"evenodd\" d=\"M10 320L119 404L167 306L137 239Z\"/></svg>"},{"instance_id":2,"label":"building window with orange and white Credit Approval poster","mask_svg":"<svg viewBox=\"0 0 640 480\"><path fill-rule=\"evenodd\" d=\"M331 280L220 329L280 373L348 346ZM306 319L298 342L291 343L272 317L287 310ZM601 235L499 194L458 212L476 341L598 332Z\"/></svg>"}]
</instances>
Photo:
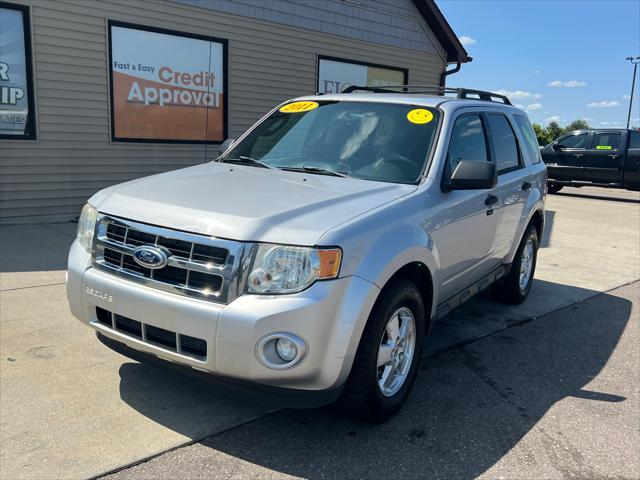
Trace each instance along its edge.
<instances>
[{"instance_id":1,"label":"building window with orange and white Credit Approval poster","mask_svg":"<svg viewBox=\"0 0 640 480\"><path fill-rule=\"evenodd\" d=\"M114 141L227 138L227 42L109 22Z\"/></svg>"}]
</instances>

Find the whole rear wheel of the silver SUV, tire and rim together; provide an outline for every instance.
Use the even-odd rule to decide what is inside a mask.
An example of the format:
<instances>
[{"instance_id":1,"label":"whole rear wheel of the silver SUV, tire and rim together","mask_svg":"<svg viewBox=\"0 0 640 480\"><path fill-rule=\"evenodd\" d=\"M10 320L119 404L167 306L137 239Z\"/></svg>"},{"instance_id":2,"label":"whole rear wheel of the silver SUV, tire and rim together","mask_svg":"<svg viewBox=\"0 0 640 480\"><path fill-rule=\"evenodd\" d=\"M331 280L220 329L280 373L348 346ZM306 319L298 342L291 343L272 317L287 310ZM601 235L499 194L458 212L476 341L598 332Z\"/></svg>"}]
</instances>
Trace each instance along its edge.
<instances>
[{"instance_id":1,"label":"whole rear wheel of the silver SUV, tire and rim together","mask_svg":"<svg viewBox=\"0 0 640 480\"><path fill-rule=\"evenodd\" d=\"M538 259L538 231L529 225L511 264L511 270L504 279L492 287L494 297L504 303L517 305L529 295Z\"/></svg>"}]
</instances>

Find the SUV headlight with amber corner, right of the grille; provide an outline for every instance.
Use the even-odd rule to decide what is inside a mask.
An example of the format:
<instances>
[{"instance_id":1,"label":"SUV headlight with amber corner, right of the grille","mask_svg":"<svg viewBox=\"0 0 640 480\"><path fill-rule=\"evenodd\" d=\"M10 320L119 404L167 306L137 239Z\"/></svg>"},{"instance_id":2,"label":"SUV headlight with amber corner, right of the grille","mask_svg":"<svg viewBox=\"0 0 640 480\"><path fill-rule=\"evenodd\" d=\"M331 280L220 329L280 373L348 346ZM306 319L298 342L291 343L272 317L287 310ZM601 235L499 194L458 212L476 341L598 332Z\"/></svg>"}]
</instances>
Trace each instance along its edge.
<instances>
[{"instance_id":1,"label":"SUV headlight with amber corner, right of the grille","mask_svg":"<svg viewBox=\"0 0 640 480\"><path fill-rule=\"evenodd\" d=\"M247 291L262 294L300 292L316 280L336 278L341 259L339 248L259 245Z\"/></svg>"}]
</instances>

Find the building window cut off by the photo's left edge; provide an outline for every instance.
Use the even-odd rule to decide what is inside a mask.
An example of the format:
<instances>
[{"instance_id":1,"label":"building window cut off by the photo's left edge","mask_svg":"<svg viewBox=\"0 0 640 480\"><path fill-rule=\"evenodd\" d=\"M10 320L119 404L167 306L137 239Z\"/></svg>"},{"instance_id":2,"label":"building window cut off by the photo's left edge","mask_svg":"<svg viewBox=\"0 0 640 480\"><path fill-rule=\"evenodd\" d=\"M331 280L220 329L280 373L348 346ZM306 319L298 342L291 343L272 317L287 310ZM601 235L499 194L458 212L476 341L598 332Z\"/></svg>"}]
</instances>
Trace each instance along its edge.
<instances>
[{"instance_id":1,"label":"building window cut off by the photo's left edge","mask_svg":"<svg viewBox=\"0 0 640 480\"><path fill-rule=\"evenodd\" d=\"M29 8L0 2L0 138L36 138Z\"/></svg>"}]
</instances>

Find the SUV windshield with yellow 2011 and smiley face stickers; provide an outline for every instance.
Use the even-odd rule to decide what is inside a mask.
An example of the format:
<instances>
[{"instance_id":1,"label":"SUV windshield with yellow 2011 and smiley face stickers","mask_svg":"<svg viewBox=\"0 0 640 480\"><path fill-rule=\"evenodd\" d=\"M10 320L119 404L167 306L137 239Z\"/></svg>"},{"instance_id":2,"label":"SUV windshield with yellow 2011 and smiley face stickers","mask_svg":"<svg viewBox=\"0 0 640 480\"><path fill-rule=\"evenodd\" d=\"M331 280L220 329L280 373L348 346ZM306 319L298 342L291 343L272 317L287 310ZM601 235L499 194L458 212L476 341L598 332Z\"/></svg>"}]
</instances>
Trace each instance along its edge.
<instances>
[{"instance_id":1,"label":"SUV windshield with yellow 2011 and smiley face stickers","mask_svg":"<svg viewBox=\"0 0 640 480\"><path fill-rule=\"evenodd\" d=\"M220 161L415 183L438 115L416 105L293 102L267 117Z\"/></svg>"}]
</instances>

